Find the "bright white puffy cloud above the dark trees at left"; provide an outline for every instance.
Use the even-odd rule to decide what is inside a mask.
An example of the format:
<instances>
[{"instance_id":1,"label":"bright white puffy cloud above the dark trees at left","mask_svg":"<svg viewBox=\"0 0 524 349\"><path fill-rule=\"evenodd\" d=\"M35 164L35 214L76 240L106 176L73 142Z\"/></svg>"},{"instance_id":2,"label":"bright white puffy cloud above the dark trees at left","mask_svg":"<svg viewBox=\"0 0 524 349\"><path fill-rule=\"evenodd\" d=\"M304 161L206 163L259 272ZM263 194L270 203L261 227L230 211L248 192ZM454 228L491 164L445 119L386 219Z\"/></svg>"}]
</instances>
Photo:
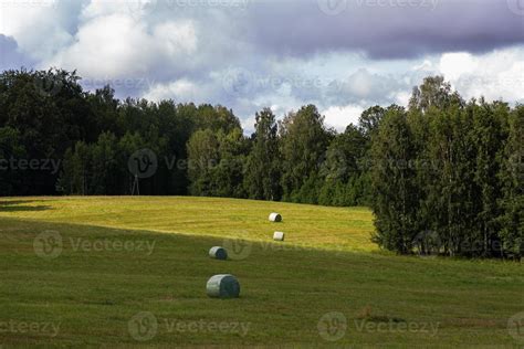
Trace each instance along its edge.
<instances>
[{"instance_id":1,"label":"bright white puffy cloud above the dark trees at left","mask_svg":"<svg viewBox=\"0 0 524 349\"><path fill-rule=\"evenodd\" d=\"M75 43L44 65L78 70L87 77L144 76L169 66L197 49L191 21L164 22L148 31L146 23L116 13L87 21L75 35Z\"/></svg>"}]
</instances>

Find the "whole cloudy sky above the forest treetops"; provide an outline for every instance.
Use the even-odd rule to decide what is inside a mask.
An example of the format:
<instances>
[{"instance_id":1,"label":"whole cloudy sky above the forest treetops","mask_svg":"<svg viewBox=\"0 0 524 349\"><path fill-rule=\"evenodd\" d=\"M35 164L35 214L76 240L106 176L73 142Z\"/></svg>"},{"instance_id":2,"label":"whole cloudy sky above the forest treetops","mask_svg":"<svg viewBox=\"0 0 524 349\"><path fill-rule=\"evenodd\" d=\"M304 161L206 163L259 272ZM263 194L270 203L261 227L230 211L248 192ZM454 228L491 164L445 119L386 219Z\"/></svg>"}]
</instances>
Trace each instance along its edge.
<instances>
[{"instance_id":1,"label":"whole cloudy sky above the forest treetops","mask_svg":"<svg viewBox=\"0 0 524 349\"><path fill-rule=\"evenodd\" d=\"M245 131L264 107L315 104L344 130L434 74L524 103L524 0L0 0L0 70L22 66L221 104Z\"/></svg>"}]
</instances>

